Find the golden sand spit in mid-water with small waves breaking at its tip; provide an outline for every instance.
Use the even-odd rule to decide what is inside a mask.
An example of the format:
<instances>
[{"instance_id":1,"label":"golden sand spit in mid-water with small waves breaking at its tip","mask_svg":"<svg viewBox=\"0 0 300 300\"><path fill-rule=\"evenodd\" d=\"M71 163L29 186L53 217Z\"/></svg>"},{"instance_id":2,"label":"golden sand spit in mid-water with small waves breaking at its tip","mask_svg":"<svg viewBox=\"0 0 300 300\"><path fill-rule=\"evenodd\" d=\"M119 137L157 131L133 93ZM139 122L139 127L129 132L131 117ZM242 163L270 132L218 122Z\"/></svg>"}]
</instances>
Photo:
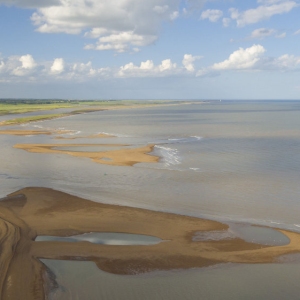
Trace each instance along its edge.
<instances>
[{"instance_id":1,"label":"golden sand spit in mid-water with small waves breaking at its tip","mask_svg":"<svg viewBox=\"0 0 300 300\"><path fill-rule=\"evenodd\" d=\"M76 157L86 157L92 159L94 162L114 165L114 166L133 166L136 163L152 163L157 162L157 156L150 155L153 151L154 145L147 145L140 148L123 148L110 151L101 152L84 152L84 151L68 151L61 150L60 147L126 147L128 145L116 144L17 144L14 148L23 149L33 153L56 153L68 154ZM54 149L55 148L55 149Z\"/></svg>"}]
</instances>

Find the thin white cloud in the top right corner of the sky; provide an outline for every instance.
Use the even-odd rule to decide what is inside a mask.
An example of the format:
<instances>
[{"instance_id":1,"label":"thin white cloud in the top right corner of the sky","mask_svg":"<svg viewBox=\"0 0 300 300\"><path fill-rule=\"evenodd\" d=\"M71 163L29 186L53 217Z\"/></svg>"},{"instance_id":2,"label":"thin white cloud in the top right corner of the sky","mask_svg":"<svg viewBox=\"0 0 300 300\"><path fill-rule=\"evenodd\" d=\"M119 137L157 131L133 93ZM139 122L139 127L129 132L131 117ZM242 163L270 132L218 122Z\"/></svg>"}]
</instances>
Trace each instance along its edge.
<instances>
[{"instance_id":1,"label":"thin white cloud in the top right corner of the sky","mask_svg":"<svg viewBox=\"0 0 300 300\"><path fill-rule=\"evenodd\" d=\"M262 1L260 1L262 2ZM258 23L267 20L274 15L284 14L290 12L298 4L295 1L264 1L263 5L254 9L248 9L239 12L235 8L231 8L231 18L236 20L238 27L243 27L248 24Z\"/></svg>"}]
</instances>

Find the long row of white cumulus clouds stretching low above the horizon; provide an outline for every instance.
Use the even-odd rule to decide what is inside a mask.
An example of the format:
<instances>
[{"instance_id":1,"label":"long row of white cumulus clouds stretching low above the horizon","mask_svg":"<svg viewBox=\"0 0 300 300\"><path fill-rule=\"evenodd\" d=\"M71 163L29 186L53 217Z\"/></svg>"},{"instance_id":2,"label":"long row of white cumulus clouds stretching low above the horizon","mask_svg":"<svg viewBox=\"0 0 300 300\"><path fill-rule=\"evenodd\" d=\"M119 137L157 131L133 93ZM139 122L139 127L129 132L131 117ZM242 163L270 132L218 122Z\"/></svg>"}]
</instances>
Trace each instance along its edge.
<instances>
[{"instance_id":1,"label":"long row of white cumulus clouds stretching low above the horizon","mask_svg":"<svg viewBox=\"0 0 300 300\"><path fill-rule=\"evenodd\" d=\"M63 58L52 61L36 62L30 54L22 56L0 56L1 82L50 82L64 80L85 82L87 80L103 80L112 78L140 77L172 77L172 76L217 76L222 72L268 71L288 72L300 71L300 57L284 54L279 57L265 56L266 50L261 45L239 48L229 55L228 59L212 64L209 67L196 69L194 62L200 56L185 54L182 65L171 59L164 59L159 64L148 59L140 64L132 62L120 67L93 66L92 62L66 63Z\"/></svg>"}]
</instances>

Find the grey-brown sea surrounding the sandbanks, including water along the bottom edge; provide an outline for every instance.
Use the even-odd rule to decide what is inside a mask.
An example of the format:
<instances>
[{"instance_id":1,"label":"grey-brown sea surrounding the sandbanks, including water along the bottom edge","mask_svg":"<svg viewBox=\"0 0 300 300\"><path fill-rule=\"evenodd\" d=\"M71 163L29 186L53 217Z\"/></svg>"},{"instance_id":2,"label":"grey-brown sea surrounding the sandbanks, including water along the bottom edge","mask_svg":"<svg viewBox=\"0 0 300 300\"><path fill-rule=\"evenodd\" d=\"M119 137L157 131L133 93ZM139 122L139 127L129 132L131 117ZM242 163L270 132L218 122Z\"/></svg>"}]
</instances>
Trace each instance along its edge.
<instances>
[{"instance_id":1,"label":"grey-brown sea surrounding the sandbanks, including water along the bottom edge","mask_svg":"<svg viewBox=\"0 0 300 300\"><path fill-rule=\"evenodd\" d=\"M16 117L34 114L41 113ZM76 139L0 135L0 198L41 186L96 202L217 220L232 228L262 225L300 232L300 101L193 101L98 111L21 128L68 130L61 136ZM88 138L99 133L114 137ZM73 143L99 144L77 151L103 151L101 144L153 144L151 155L160 159L110 166L13 148L22 143L59 143L66 150ZM299 299L300 294L299 255L273 264L229 263L130 276L103 272L91 262L43 262L58 283L53 300Z\"/></svg>"}]
</instances>

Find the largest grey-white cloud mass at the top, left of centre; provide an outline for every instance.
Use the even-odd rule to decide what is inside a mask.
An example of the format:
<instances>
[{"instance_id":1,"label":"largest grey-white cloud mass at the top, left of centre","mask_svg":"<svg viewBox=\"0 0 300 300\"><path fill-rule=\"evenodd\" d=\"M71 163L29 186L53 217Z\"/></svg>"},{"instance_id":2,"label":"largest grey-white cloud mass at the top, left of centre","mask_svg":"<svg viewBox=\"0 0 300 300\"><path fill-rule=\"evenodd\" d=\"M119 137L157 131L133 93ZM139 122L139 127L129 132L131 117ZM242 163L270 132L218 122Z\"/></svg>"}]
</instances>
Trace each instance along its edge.
<instances>
[{"instance_id":1,"label":"largest grey-white cloud mass at the top, left of centre","mask_svg":"<svg viewBox=\"0 0 300 300\"><path fill-rule=\"evenodd\" d=\"M39 7L31 20L42 33L84 33L99 39L86 49L122 52L153 43L162 23L178 18L181 1L59 0L56 5Z\"/></svg>"}]
</instances>

